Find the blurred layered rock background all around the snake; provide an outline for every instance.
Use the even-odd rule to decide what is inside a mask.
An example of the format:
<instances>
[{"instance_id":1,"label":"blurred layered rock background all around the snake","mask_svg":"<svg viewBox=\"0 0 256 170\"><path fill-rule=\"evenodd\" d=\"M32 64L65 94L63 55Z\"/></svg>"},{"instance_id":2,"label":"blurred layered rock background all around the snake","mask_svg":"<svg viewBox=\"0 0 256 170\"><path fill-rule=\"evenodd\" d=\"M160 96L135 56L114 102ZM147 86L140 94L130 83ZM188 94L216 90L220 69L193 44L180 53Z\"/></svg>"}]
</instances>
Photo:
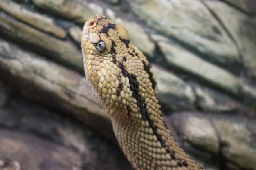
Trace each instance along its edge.
<instances>
[{"instance_id":1,"label":"blurred layered rock background all around the snake","mask_svg":"<svg viewBox=\"0 0 256 170\"><path fill-rule=\"evenodd\" d=\"M84 79L81 29L124 26L207 170L256 170L256 0L0 0L0 170L132 170Z\"/></svg>"}]
</instances>

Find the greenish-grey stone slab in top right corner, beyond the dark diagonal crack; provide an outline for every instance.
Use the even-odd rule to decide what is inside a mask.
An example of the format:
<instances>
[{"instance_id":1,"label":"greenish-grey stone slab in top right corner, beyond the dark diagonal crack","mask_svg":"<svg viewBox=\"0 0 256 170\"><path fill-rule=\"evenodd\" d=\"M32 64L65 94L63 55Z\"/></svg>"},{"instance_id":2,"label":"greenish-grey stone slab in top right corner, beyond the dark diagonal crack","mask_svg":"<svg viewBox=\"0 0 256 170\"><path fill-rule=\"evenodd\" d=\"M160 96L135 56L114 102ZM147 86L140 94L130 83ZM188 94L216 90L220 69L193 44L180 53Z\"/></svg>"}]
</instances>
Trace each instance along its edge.
<instances>
[{"instance_id":1,"label":"greenish-grey stone slab in top right corner, beyond the dark diagonal crack","mask_svg":"<svg viewBox=\"0 0 256 170\"><path fill-rule=\"evenodd\" d=\"M256 78L256 20L224 2L205 1L234 38L243 58L248 75Z\"/></svg>"}]
</instances>

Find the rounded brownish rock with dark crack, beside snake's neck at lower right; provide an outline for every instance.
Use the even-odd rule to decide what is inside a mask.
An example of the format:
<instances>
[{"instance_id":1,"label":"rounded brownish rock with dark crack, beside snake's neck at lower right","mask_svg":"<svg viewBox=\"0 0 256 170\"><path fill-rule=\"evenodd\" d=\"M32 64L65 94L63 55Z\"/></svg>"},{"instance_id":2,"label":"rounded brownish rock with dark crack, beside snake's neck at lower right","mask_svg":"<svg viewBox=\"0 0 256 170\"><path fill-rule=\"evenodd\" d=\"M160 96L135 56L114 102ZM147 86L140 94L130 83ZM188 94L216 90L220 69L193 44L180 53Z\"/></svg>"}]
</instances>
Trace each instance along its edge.
<instances>
[{"instance_id":1,"label":"rounded brownish rock with dark crack, beside snake's neck at lower right","mask_svg":"<svg viewBox=\"0 0 256 170\"><path fill-rule=\"evenodd\" d=\"M219 117L193 112L174 113L167 119L177 129L184 148L196 146L200 149L194 154L210 157L202 152L208 150L222 157L218 161L214 159L216 156L211 158L215 166L224 163L222 169L255 169L255 119L245 120L242 117ZM204 166L208 169L207 164ZM211 168L215 169L214 166L209 167Z\"/></svg>"}]
</instances>

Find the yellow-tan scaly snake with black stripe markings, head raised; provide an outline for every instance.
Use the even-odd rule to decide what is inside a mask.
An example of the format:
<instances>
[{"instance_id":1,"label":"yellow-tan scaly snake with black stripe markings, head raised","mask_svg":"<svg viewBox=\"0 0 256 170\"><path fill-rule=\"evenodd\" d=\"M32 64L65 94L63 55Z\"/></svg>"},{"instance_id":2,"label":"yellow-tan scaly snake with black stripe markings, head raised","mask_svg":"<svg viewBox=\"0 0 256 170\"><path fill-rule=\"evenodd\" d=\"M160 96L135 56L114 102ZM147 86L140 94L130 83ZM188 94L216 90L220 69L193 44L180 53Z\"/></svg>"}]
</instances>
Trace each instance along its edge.
<instances>
[{"instance_id":1,"label":"yellow-tan scaly snake with black stripe markings, head raised","mask_svg":"<svg viewBox=\"0 0 256 170\"><path fill-rule=\"evenodd\" d=\"M81 47L85 77L136 170L203 170L175 141L160 110L157 79L128 31L106 16L88 19Z\"/></svg>"}]
</instances>

